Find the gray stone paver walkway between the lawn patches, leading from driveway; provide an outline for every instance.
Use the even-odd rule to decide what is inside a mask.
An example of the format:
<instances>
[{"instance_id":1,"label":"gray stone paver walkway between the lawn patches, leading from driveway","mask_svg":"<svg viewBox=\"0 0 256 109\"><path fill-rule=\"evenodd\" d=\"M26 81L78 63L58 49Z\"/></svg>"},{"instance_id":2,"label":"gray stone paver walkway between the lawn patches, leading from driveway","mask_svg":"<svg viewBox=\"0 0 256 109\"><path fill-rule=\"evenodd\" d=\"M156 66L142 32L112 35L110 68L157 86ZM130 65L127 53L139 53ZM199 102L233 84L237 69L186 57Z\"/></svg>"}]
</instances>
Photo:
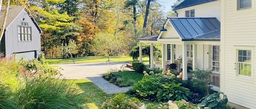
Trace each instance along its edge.
<instances>
[{"instance_id":1,"label":"gray stone paver walkway between the lawn patches, leading from driveway","mask_svg":"<svg viewBox=\"0 0 256 109\"><path fill-rule=\"evenodd\" d=\"M87 79L91 80L96 86L102 89L106 94L114 94L114 93L122 93L127 92L132 86L130 87L117 87L114 84L109 83L102 77L88 77Z\"/></svg>"}]
</instances>

